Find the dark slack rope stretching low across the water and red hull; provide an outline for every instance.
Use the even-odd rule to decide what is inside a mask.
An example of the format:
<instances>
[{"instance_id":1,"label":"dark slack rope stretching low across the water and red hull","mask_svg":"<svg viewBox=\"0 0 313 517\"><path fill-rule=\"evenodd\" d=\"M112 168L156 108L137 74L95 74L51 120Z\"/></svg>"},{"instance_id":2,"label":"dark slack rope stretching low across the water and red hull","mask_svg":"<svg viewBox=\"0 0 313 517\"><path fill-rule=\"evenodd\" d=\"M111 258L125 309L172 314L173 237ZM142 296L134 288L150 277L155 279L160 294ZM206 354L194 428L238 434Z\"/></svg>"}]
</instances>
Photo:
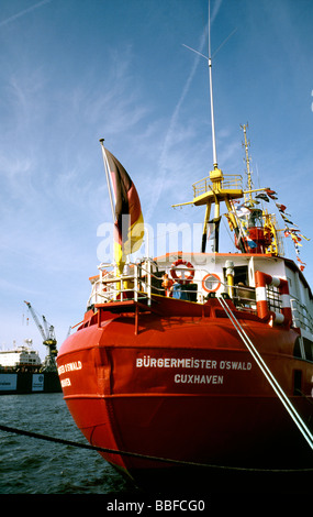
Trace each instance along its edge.
<instances>
[{"instance_id":1,"label":"dark slack rope stretching low across the water and red hull","mask_svg":"<svg viewBox=\"0 0 313 517\"><path fill-rule=\"evenodd\" d=\"M71 440L65 440L64 438L49 437L47 435L41 435L38 432L26 431L24 429L16 429L14 427L8 427L0 425L0 430L5 432L13 432L14 435L21 435L29 438L36 438L38 440L52 441L55 443L60 443L63 446L70 446L80 449L89 449L97 452L105 452L108 454L119 454L123 457L137 458L139 460L157 461L161 463L172 463L185 466L201 466L205 469L216 469L216 470L228 470L228 471L244 471L244 472L272 472L272 473L304 473L313 472L313 469L249 469L244 466L223 466L223 465L209 465L206 463L197 463L191 461L174 460L170 458L158 458L147 454L141 454L138 452L127 452L127 451L118 451L115 449L108 449L104 447L91 446L89 443L81 443Z\"/></svg>"}]
</instances>

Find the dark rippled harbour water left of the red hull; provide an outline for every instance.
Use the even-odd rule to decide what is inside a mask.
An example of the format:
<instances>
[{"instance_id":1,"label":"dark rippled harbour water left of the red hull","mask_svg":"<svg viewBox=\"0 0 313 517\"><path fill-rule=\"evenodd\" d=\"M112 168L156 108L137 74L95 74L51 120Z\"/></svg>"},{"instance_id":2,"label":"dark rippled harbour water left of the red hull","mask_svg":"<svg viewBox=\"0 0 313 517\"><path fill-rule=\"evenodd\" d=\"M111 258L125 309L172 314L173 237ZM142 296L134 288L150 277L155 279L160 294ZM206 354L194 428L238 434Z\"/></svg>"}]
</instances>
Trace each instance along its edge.
<instances>
[{"instance_id":1,"label":"dark rippled harbour water left of the red hull","mask_svg":"<svg viewBox=\"0 0 313 517\"><path fill-rule=\"evenodd\" d=\"M63 394L2 395L1 424L87 443ZM0 494L135 494L98 452L0 431Z\"/></svg>"}]
</instances>

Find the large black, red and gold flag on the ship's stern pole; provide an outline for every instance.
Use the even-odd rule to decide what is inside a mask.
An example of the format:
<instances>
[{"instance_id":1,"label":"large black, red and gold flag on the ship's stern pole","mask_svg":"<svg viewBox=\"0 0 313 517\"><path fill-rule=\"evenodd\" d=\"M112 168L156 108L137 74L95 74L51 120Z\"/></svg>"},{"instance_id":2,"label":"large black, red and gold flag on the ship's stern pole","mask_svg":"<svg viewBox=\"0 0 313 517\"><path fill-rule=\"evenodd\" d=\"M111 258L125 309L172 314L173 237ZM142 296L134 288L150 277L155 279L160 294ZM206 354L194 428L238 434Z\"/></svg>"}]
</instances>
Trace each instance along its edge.
<instances>
[{"instance_id":1,"label":"large black, red and gold flag on the ship's stern pole","mask_svg":"<svg viewBox=\"0 0 313 517\"><path fill-rule=\"evenodd\" d=\"M139 196L131 177L119 160L107 148L104 151L115 195L114 257L122 273L125 256L142 245L144 218Z\"/></svg>"}]
</instances>

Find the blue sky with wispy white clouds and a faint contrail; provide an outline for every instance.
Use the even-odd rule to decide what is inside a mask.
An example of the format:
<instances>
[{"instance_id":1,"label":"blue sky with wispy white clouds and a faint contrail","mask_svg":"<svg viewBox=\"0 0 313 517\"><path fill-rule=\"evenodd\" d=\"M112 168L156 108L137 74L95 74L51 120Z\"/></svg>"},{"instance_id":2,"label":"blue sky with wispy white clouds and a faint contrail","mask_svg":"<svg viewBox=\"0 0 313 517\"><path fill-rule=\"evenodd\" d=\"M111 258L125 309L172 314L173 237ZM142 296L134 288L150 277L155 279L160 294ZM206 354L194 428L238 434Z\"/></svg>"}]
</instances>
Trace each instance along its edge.
<instances>
[{"instance_id":1,"label":"blue sky with wispy white clouds and a faint contrail","mask_svg":"<svg viewBox=\"0 0 313 517\"><path fill-rule=\"evenodd\" d=\"M212 53L236 29L213 59L219 166L244 173L248 122L255 184L313 239L313 2L212 0L211 18ZM111 221L100 138L146 222L202 222L171 208L212 168L208 65L182 44L208 54L206 0L0 0L0 345L44 356L24 299L59 345L83 316Z\"/></svg>"}]
</instances>

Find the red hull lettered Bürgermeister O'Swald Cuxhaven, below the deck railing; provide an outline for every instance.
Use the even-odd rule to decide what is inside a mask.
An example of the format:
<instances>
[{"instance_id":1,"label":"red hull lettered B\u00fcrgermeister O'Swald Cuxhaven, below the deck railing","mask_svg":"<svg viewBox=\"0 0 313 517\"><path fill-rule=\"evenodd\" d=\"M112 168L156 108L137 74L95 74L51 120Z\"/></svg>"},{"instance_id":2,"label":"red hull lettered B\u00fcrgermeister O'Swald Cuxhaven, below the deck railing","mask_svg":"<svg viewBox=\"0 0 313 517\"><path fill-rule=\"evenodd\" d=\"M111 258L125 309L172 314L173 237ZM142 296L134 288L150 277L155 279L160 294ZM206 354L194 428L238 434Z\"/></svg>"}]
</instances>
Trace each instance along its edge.
<instances>
[{"instance_id":1,"label":"red hull lettered B\u00fcrgermeister O'Swald Cuxhaven, below the deck railing","mask_svg":"<svg viewBox=\"0 0 313 517\"><path fill-rule=\"evenodd\" d=\"M219 302L158 298L143 312L133 301L99 306L59 351L65 400L88 441L120 451L101 454L155 486L174 477L199 486L203 469L235 476L310 469L306 441ZM297 383L310 396L313 364L293 356L297 330L236 316L308 421L312 405Z\"/></svg>"}]
</instances>

